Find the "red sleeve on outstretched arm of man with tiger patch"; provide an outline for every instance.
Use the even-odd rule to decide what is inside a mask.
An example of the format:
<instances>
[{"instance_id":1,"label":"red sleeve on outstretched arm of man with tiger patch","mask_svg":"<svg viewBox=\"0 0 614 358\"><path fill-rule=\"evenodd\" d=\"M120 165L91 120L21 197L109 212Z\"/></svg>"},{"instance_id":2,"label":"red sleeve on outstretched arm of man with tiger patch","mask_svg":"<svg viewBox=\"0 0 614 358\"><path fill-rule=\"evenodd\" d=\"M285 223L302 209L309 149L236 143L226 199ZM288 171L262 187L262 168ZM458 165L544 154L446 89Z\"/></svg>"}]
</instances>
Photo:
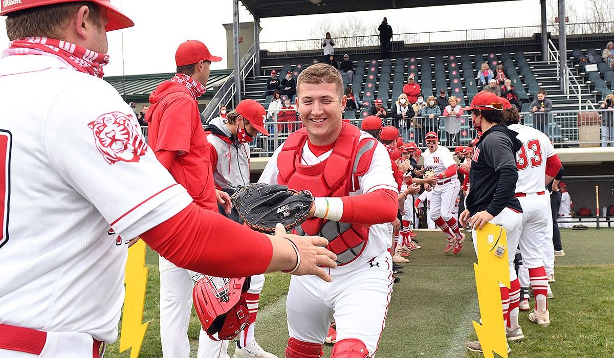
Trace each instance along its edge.
<instances>
[{"instance_id":1,"label":"red sleeve on outstretched arm of man with tiger patch","mask_svg":"<svg viewBox=\"0 0 614 358\"><path fill-rule=\"evenodd\" d=\"M141 238L178 267L212 276L260 274L273 257L273 245L266 235L195 203L142 233Z\"/></svg>"}]
</instances>

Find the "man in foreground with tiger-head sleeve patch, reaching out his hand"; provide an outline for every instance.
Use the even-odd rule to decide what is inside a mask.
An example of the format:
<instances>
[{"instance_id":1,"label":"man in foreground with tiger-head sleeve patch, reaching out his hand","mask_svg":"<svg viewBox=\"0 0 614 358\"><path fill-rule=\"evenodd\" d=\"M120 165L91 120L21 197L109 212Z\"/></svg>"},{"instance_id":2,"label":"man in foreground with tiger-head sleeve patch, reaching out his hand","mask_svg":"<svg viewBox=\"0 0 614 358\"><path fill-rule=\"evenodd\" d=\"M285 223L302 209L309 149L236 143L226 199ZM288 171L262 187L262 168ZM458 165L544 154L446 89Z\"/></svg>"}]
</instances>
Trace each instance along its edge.
<instances>
[{"instance_id":1,"label":"man in foreground with tiger-head sleeve patch, reaching out his hand","mask_svg":"<svg viewBox=\"0 0 614 358\"><path fill-rule=\"evenodd\" d=\"M325 239L248 230L193 203L160 165L101 78L106 31L133 26L108 0L4 1L0 15L12 41L0 60L0 357L101 356L136 236L201 273L330 281L316 267L336 266Z\"/></svg>"}]
</instances>

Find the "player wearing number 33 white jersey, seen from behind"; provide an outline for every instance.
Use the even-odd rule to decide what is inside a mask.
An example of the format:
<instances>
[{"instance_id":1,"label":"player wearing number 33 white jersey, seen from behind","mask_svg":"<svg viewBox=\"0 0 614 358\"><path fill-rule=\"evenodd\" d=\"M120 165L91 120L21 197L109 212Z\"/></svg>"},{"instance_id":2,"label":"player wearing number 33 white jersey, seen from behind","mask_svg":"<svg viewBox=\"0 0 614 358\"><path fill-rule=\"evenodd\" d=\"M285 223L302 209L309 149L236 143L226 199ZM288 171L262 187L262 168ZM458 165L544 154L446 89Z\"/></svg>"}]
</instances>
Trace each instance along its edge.
<instances>
[{"instance_id":1,"label":"player wearing number 33 white jersey, seen from behind","mask_svg":"<svg viewBox=\"0 0 614 358\"><path fill-rule=\"evenodd\" d=\"M505 98L503 122L510 130L518 133L523 146L516 153L518 181L515 197L523 207L523 221L519 234L519 247L523 267L529 271L530 285L535 296L535 310L529 320L543 327L550 325L548 313L548 278L543 262L543 245L546 233L552 227L550 198L546 195L545 185L551 182L561 168L561 160L554 151L550 138L541 131L521 125L518 109L511 106ZM507 322L508 340L519 341L524 338L518 325L518 310L521 284L516 278L510 281L510 308Z\"/></svg>"}]
</instances>

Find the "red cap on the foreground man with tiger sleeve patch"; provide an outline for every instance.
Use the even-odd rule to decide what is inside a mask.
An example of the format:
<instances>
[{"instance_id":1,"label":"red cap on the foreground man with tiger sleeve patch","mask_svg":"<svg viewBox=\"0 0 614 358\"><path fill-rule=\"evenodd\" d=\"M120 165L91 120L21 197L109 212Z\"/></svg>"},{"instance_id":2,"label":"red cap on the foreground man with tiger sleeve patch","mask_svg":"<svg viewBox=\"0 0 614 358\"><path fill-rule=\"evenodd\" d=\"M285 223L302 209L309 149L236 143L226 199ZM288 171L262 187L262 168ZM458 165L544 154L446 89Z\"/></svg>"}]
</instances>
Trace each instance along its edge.
<instances>
[{"instance_id":1,"label":"red cap on the foreground man with tiger sleeve patch","mask_svg":"<svg viewBox=\"0 0 614 358\"><path fill-rule=\"evenodd\" d=\"M16 1L2 1L0 4L0 15L7 15L11 12L30 9L32 7L39 7L53 4L64 4L66 2L76 2L80 0L16 0ZM107 17L109 22L105 26L106 31L119 30L123 28L129 28L134 26L134 22L130 20L126 15L122 14L115 6L111 5L111 0L89 0L94 4L97 4L104 9L107 9Z\"/></svg>"}]
</instances>

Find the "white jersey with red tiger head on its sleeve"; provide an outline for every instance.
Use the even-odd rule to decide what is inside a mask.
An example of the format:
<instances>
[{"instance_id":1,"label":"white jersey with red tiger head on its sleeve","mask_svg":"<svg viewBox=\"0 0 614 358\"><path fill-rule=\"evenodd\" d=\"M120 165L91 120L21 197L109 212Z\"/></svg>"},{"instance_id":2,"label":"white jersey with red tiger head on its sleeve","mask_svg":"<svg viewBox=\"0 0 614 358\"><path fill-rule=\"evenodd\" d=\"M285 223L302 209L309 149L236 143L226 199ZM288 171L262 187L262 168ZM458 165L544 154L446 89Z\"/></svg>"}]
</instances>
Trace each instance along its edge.
<instances>
[{"instance_id":1,"label":"white jersey with red tiger head on its sleeve","mask_svg":"<svg viewBox=\"0 0 614 358\"><path fill-rule=\"evenodd\" d=\"M115 341L126 240L192 198L119 93L56 58L2 58L0 112L0 323Z\"/></svg>"}]
</instances>

